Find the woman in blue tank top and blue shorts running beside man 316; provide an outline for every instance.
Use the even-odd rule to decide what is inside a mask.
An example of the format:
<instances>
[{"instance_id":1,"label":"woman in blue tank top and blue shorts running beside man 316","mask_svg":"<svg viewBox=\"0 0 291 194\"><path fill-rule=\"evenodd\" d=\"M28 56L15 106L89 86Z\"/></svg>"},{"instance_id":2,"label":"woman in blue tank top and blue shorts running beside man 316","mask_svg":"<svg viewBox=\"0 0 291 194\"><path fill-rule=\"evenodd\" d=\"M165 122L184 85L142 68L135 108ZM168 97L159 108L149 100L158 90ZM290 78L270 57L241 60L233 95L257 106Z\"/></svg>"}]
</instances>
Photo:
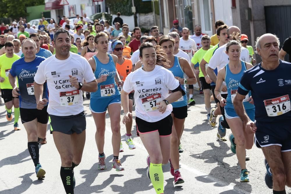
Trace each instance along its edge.
<instances>
[{"instance_id":1,"label":"woman in blue tank top and blue shorts running beside man 316","mask_svg":"<svg viewBox=\"0 0 291 194\"><path fill-rule=\"evenodd\" d=\"M219 70L217 75L216 87L214 90L217 99L220 100L220 106L224 107L226 121L231 129L232 134L229 135L230 149L237 155L239 165L241 167L240 181L249 182L249 172L246 169L246 149L251 149L254 143L254 134L246 133L243 129L243 122L235 112L233 107L233 99L237 93L239 81L243 73L252 68L253 65L239 60L241 52L241 44L236 41L240 35L234 35L233 40L229 41L226 45L226 54L229 57L229 63L225 68ZM227 98L221 97L222 82L226 82L228 91ZM246 95L244 99L244 109L249 118L255 120L255 106L251 104L251 92Z\"/></svg>"}]
</instances>

